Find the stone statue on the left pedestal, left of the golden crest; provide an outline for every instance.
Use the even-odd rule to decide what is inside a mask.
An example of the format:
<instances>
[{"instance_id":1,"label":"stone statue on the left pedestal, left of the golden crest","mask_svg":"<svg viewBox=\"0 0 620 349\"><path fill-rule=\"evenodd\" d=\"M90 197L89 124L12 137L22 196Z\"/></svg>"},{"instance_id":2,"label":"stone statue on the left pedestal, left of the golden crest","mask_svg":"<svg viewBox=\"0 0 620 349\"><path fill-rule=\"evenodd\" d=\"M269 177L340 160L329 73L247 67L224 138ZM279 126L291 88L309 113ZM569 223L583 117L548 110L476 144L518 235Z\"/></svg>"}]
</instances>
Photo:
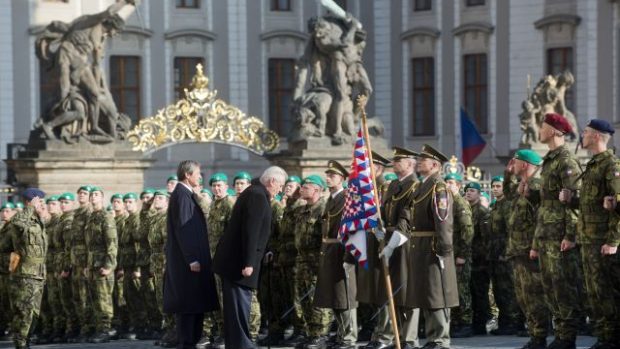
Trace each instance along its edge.
<instances>
[{"instance_id":1,"label":"stone statue on the left pedestal, left of the golden crest","mask_svg":"<svg viewBox=\"0 0 620 349\"><path fill-rule=\"evenodd\" d=\"M117 0L101 13L68 24L53 21L37 38L37 57L47 69L58 69L59 76L57 102L34 125L46 138L106 143L125 137L131 120L118 112L101 61L106 38L125 25L118 12L136 6L135 1Z\"/></svg>"}]
</instances>

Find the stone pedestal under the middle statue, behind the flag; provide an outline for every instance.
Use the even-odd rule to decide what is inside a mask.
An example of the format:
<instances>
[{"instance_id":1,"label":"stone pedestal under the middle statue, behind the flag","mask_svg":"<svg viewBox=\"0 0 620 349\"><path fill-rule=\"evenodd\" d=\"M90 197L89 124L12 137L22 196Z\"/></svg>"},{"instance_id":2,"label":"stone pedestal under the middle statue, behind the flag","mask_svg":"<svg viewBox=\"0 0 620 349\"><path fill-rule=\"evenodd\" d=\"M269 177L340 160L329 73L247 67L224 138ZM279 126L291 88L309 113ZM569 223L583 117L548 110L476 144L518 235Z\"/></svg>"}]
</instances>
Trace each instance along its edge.
<instances>
[{"instance_id":1,"label":"stone pedestal under the middle statue, behind the flag","mask_svg":"<svg viewBox=\"0 0 620 349\"><path fill-rule=\"evenodd\" d=\"M379 154L391 157L385 139L371 137L372 150ZM323 175L327 169L327 161L336 160L346 168L351 166L353 160L354 143L338 146L331 144L331 139L310 138L305 141L288 145L288 149L276 154L267 155L273 165L280 166L289 173L304 178L310 174Z\"/></svg>"}]
</instances>

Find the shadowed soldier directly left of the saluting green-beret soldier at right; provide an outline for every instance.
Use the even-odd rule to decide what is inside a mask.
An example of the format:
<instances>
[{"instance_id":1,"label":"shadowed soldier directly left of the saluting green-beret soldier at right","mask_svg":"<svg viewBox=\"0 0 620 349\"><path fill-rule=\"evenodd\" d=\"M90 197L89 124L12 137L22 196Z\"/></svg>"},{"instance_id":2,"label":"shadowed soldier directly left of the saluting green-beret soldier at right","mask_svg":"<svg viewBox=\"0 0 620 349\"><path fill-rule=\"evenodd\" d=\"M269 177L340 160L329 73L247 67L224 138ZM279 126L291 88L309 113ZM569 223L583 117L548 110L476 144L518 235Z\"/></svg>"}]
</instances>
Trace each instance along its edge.
<instances>
[{"instance_id":1,"label":"shadowed soldier directly left of the saluting green-beret soldier at right","mask_svg":"<svg viewBox=\"0 0 620 349\"><path fill-rule=\"evenodd\" d=\"M508 243L508 217L511 201L504 197L504 177L491 178L491 192L495 201L491 204L491 230L487 238L489 276L493 285L493 298L499 310L498 328L491 330L494 335L514 335L523 327L517 305L512 264L506 257Z\"/></svg>"}]
</instances>

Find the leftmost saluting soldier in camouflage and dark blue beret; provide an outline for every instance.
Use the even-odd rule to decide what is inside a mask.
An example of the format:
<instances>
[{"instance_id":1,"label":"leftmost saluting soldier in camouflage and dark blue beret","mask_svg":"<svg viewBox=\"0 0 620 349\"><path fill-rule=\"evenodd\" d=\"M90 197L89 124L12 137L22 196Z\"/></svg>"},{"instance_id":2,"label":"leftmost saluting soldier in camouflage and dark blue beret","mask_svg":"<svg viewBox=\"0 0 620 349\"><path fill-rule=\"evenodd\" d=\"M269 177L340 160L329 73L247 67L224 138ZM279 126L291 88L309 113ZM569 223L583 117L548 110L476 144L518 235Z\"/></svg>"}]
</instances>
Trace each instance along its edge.
<instances>
[{"instance_id":1,"label":"leftmost saluting soldier in camouflage and dark blue beret","mask_svg":"<svg viewBox=\"0 0 620 349\"><path fill-rule=\"evenodd\" d=\"M0 253L10 254L11 334L15 348L30 348L31 325L36 323L43 296L49 213L45 193L28 188L22 194L26 208L7 224L0 239Z\"/></svg>"}]
</instances>

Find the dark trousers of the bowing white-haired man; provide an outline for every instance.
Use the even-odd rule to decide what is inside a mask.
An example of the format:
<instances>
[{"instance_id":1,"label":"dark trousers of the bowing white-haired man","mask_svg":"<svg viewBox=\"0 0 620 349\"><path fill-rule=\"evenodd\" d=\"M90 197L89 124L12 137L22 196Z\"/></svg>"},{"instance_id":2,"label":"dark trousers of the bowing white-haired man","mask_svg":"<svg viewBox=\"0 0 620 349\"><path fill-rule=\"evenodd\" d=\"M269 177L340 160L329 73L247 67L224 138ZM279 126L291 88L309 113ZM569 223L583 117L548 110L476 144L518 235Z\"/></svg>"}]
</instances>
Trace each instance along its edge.
<instances>
[{"instance_id":1,"label":"dark trousers of the bowing white-haired man","mask_svg":"<svg viewBox=\"0 0 620 349\"><path fill-rule=\"evenodd\" d=\"M226 349L256 348L250 336L249 325L252 289L239 286L222 277L222 296Z\"/></svg>"}]
</instances>

